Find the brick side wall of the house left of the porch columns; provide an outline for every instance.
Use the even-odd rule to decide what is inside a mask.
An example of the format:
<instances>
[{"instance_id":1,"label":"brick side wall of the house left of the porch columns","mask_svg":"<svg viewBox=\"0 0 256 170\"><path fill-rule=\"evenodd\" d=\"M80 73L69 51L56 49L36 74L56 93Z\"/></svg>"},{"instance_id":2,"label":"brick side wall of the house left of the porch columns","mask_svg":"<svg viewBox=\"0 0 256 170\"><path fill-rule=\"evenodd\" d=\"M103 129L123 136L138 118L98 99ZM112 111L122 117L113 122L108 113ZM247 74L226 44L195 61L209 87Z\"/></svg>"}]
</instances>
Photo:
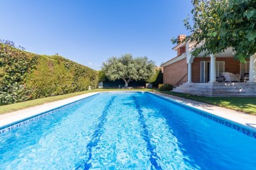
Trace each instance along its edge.
<instances>
[{"instance_id":1,"label":"brick side wall of the house left of the porch columns","mask_svg":"<svg viewBox=\"0 0 256 170\"><path fill-rule=\"evenodd\" d=\"M187 72L188 64L186 63L186 58L164 67L164 84L178 86L186 83L188 81ZM184 77L184 75L186 76Z\"/></svg>"}]
</instances>

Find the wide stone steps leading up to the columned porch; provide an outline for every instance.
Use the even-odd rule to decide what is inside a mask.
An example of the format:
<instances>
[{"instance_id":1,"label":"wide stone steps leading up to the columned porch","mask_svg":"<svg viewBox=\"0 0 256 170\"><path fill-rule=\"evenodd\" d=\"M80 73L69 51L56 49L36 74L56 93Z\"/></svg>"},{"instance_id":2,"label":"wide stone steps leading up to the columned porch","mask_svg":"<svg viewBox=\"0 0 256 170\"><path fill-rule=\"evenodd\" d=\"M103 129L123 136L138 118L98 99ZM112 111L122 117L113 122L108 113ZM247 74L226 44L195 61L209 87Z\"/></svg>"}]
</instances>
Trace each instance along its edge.
<instances>
[{"instance_id":1,"label":"wide stone steps leading up to the columned porch","mask_svg":"<svg viewBox=\"0 0 256 170\"><path fill-rule=\"evenodd\" d=\"M184 83L174 88L173 91L198 96L256 96L256 83Z\"/></svg>"}]
</instances>

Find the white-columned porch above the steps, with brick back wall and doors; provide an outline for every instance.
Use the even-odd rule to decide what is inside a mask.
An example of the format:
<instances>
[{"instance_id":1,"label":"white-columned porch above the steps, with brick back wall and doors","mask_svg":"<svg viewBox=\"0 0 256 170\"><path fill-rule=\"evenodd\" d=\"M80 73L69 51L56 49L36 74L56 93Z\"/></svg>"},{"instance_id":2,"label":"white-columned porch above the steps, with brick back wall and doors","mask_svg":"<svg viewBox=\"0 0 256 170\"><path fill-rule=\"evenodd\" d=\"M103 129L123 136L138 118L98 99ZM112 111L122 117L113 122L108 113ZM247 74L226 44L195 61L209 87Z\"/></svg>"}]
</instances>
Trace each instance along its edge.
<instances>
[{"instance_id":1,"label":"white-columned porch above the steps, with brick back wall and doors","mask_svg":"<svg viewBox=\"0 0 256 170\"><path fill-rule=\"evenodd\" d=\"M194 57L191 55L191 52L187 52L187 83L216 83L220 81L218 78L223 76L223 73L225 72L230 72L230 74L240 74L240 77L235 80L223 79L223 81L247 81L256 83L256 55L252 55L250 60L247 60L245 63L234 60L233 55L231 48L228 48L225 52L220 54L210 55L209 57L203 57L203 54L199 54L197 57ZM199 76L200 80L198 81L196 77L198 78Z\"/></svg>"}]
</instances>

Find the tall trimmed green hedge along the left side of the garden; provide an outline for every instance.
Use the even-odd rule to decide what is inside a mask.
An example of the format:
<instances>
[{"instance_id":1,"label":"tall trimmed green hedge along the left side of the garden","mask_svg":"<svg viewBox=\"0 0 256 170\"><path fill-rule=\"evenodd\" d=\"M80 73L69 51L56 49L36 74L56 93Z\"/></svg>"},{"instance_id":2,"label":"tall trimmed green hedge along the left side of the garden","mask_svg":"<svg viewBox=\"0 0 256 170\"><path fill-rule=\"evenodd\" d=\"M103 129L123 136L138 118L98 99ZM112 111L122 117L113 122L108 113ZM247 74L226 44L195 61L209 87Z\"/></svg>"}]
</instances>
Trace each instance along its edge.
<instances>
[{"instance_id":1,"label":"tall trimmed green hedge along the left side of the garden","mask_svg":"<svg viewBox=\"0 0 256 170\"><path fill-rule=\"evenodd\" d=\"M59 55L36 55L0 43L0 105L97 87L98 73Z\"/></svg>"}]
</instances>

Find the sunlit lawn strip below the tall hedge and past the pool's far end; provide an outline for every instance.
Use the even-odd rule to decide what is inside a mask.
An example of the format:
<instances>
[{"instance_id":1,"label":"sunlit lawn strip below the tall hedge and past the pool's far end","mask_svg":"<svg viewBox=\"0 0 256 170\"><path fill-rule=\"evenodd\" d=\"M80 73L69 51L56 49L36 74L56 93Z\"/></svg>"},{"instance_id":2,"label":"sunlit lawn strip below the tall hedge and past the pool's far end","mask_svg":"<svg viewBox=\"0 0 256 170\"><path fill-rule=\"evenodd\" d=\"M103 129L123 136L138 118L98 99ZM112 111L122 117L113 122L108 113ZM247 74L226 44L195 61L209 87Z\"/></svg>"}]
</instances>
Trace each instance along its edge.
<instances>
[{"instance_id":1,"label":"sunlit lawn strip below the tall hedge and past the pool's far end","mask_svg":"<svg viewBox=\"0 0 256 170\"><path fill-rule=\"evenodd\" d=\"M63 94L63 95L59 95L59 96L51 96L51 97L46 97L46 98L38 98L35 100L31 100L31 101L24 101L21 103L14 103L14 104L9 104L9 105L5 105L5 106L0 106L0 114L4 114L4 113L9 113L12 111L18 111L21 110L23 108L29 108L32 106L37 106L37 105L41 105L43 103L48 103L48 102L52 102L52 101L59 101L62 100L64 98L70 98L73 96L78 96L81 94L88 94L91 92L100 92L100 91L152 91L151 89L94 89L91 91L80 91L80 92L76 92L73 94Z\"/></svg>"}]
</instances>

